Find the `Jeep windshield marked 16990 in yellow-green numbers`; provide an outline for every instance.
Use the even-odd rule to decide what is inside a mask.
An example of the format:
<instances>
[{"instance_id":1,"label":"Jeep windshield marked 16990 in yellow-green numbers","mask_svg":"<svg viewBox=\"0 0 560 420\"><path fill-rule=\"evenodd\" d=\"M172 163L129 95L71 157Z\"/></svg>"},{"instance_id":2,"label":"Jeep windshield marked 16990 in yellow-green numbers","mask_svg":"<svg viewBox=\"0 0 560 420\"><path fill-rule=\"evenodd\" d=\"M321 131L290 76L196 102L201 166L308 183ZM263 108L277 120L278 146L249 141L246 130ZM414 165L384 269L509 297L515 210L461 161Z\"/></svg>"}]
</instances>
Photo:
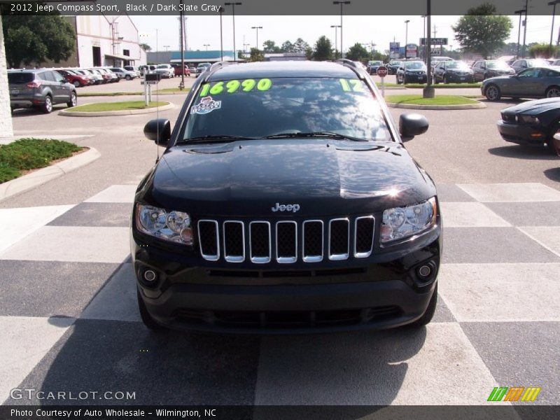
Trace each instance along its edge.
<instances>
[{"instance_id":1,"label":"Jeep windshield marked 16990 in yellow-green numbers","mask_svg":"<svg viewBox=\"0 0 560 420\"><path fill-rule=\"evenodd\" d=\"M205 83L183 139L329 132L392 141L379 102L359 79L261 78Z\"/></svg>"}]
</instances>

